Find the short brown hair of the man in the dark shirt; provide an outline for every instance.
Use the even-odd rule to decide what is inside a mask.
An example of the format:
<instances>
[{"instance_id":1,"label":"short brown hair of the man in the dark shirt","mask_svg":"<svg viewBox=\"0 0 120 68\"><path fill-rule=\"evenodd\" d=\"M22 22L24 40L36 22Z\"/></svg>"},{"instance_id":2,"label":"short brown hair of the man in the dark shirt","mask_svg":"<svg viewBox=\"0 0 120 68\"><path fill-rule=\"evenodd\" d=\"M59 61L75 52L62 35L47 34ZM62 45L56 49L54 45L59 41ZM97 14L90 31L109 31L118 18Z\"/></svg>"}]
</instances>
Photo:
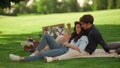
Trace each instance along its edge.
<instances>
[{"instance_id":1,"label":"short brown hair of the man in the dark shirt","mask_svg":"<svg viewBox=\"0 0 120 68\"><path fill-rule=\"evenodd\" d=\"M86 24L88 24L88 23L93 24L94 17L90 14L85 14L80 18L80 22L83 22L83 23L86 23Z\"/></svg>"}]
</instances>

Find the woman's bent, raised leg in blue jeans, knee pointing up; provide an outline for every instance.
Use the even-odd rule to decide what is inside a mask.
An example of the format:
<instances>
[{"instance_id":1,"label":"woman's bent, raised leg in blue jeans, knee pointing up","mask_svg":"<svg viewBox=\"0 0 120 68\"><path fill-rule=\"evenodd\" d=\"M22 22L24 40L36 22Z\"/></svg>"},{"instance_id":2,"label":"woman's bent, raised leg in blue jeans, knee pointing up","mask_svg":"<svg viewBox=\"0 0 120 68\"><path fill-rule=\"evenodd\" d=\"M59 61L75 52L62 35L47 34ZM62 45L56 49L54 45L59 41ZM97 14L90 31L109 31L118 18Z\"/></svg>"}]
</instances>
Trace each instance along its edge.
<instances>
[{"instance_id":1,"label":"woman's bent, raised leg in blue jeans, knee pointing up","mask_svg":"<svg viewBox=\"0 0 120 68\"><path fill-rule=\"evenodd\" d=\"M48 44L50 49L56 49L60 46L57 44L57 42L54 40L53 37L51 37L48 34L45 34L40 42L40 44L36 47L36 51L34 52L35 55L39 54L39 52Z\"/></svg>"}]
</instances>

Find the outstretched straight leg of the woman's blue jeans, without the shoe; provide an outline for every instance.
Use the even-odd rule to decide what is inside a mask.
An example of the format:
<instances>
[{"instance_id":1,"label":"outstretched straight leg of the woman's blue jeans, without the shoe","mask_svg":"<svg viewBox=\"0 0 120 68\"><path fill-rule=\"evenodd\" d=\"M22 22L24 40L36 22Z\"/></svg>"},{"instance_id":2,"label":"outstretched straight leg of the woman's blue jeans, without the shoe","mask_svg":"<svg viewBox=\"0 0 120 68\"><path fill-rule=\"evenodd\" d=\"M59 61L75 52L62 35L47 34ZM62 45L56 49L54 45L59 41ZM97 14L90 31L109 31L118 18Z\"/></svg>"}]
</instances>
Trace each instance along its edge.
<instances>
[{"instance_id":1,"label":"outstretched straight leg of the woman's blue jeans, without the shoe","mask_svg":"<svg viewBox=\"0 0 120 68\"><path fill-rule=\"evenodd\" d=\"M68 48L66 48L66 47L61 47L59 49L52 49L52 50L48 50L46 52L41 52L41 53L39 53L38 55L35 55L35 56L25 57L24 61L38 60L38 59L44 58L45 56L55 57L55 56L62 55L64 53L66 53L67 51L68 51Z\"/></svg>"}]
</instances>

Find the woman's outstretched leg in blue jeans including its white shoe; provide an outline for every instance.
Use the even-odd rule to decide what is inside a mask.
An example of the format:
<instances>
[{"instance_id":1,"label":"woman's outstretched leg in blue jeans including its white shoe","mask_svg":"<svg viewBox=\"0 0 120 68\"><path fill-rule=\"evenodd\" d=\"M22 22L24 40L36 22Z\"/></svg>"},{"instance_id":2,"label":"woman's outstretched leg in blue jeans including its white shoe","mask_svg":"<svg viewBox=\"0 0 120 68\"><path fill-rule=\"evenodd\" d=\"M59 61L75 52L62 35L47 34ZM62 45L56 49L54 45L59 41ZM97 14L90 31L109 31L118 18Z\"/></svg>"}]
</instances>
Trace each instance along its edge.
<instances>
[{"instance_id":1,"label":"woman's outstretched leg in blue jeans including its white shoe","mask_svg":"<svg viewBox=\"0 0 120 68\"><path fill-rule=\"evenodd\" d=\"M42 59L45 56L51 56L51 57L59 56L59 55L66 53L67 51L68 51L68 48L61 47L58 49L51 49L46 52L41 52L38 55L34 55L34 56L20 57L20 56L14 55L14 54L9 54L9 57L13 61L30 61L30 60Z\"/></svg>"}]
</instances>

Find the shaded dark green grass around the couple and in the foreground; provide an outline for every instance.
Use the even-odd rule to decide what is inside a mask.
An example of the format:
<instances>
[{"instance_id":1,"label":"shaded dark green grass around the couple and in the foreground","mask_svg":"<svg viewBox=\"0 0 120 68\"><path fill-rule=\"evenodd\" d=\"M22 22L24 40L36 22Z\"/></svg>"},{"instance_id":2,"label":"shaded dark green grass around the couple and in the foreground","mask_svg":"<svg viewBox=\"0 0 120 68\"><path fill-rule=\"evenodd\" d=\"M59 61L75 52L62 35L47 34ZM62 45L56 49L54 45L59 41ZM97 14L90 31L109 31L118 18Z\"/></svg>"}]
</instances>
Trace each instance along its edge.
<instances>
[{"instance_id":1,"label":"shaded dark green grass around the couple and in the foreground","mask_svg":"<svg viewBox=\"0 0 120 68\"><path fill-rule=\"evenodd\" d=\"M120 25L96 25L96 26L102 33L106 42L113 42L113 41L120 40ZM72 28L72 31L73 31L73 28ZM33 62L16 63L16 62L10 61L10 59L8 58L8 54L10 53L14 53L21 56L29 55L30 53L23 51L23 48L20 45L20 42L27 40L29 37L33 37L34 39L40 40L41 37L39 36L39 34L42 34L42 32L34 32L31 34L0 35L0 54L1 54L0 61L2 61L1 65L5 67L9 66L12 68L21 67L21 65L22 65L21 68L27 68L29 66L30 68L37 67L37 66L44 67L44 68L45 67L55 68L56 66L58 68L64 68L64 67L71 68L70 64L73 64L72 65L73 67L78 67L80 66L79 64L81 64L82 66L86 66L86 67L89 66L90 68L93 68L93 66L90 66L90 65L95 65L94 67L98 67L100 66L99 63L101 63L103 65L102 67L106 68L106 67L111 67L111 65L114 65L114 63L107 65L109 62L111 62L111 60L113 60L116 63L116 66L114 68L117 68L119 66L119 62L117 62L117 60L113 58L105 58L105 59L99 58L99 61L96 61L98 60L97 58L93 60L92 59L72 59L68 61L57 61L50 64L43 63L44 62L43 60L42 62L36 61L34 63ZM94 62L94 63L91 63L91 62ZM59 66L59 64L63 64L63 67Z\"/></svg>"}]
</instances>

